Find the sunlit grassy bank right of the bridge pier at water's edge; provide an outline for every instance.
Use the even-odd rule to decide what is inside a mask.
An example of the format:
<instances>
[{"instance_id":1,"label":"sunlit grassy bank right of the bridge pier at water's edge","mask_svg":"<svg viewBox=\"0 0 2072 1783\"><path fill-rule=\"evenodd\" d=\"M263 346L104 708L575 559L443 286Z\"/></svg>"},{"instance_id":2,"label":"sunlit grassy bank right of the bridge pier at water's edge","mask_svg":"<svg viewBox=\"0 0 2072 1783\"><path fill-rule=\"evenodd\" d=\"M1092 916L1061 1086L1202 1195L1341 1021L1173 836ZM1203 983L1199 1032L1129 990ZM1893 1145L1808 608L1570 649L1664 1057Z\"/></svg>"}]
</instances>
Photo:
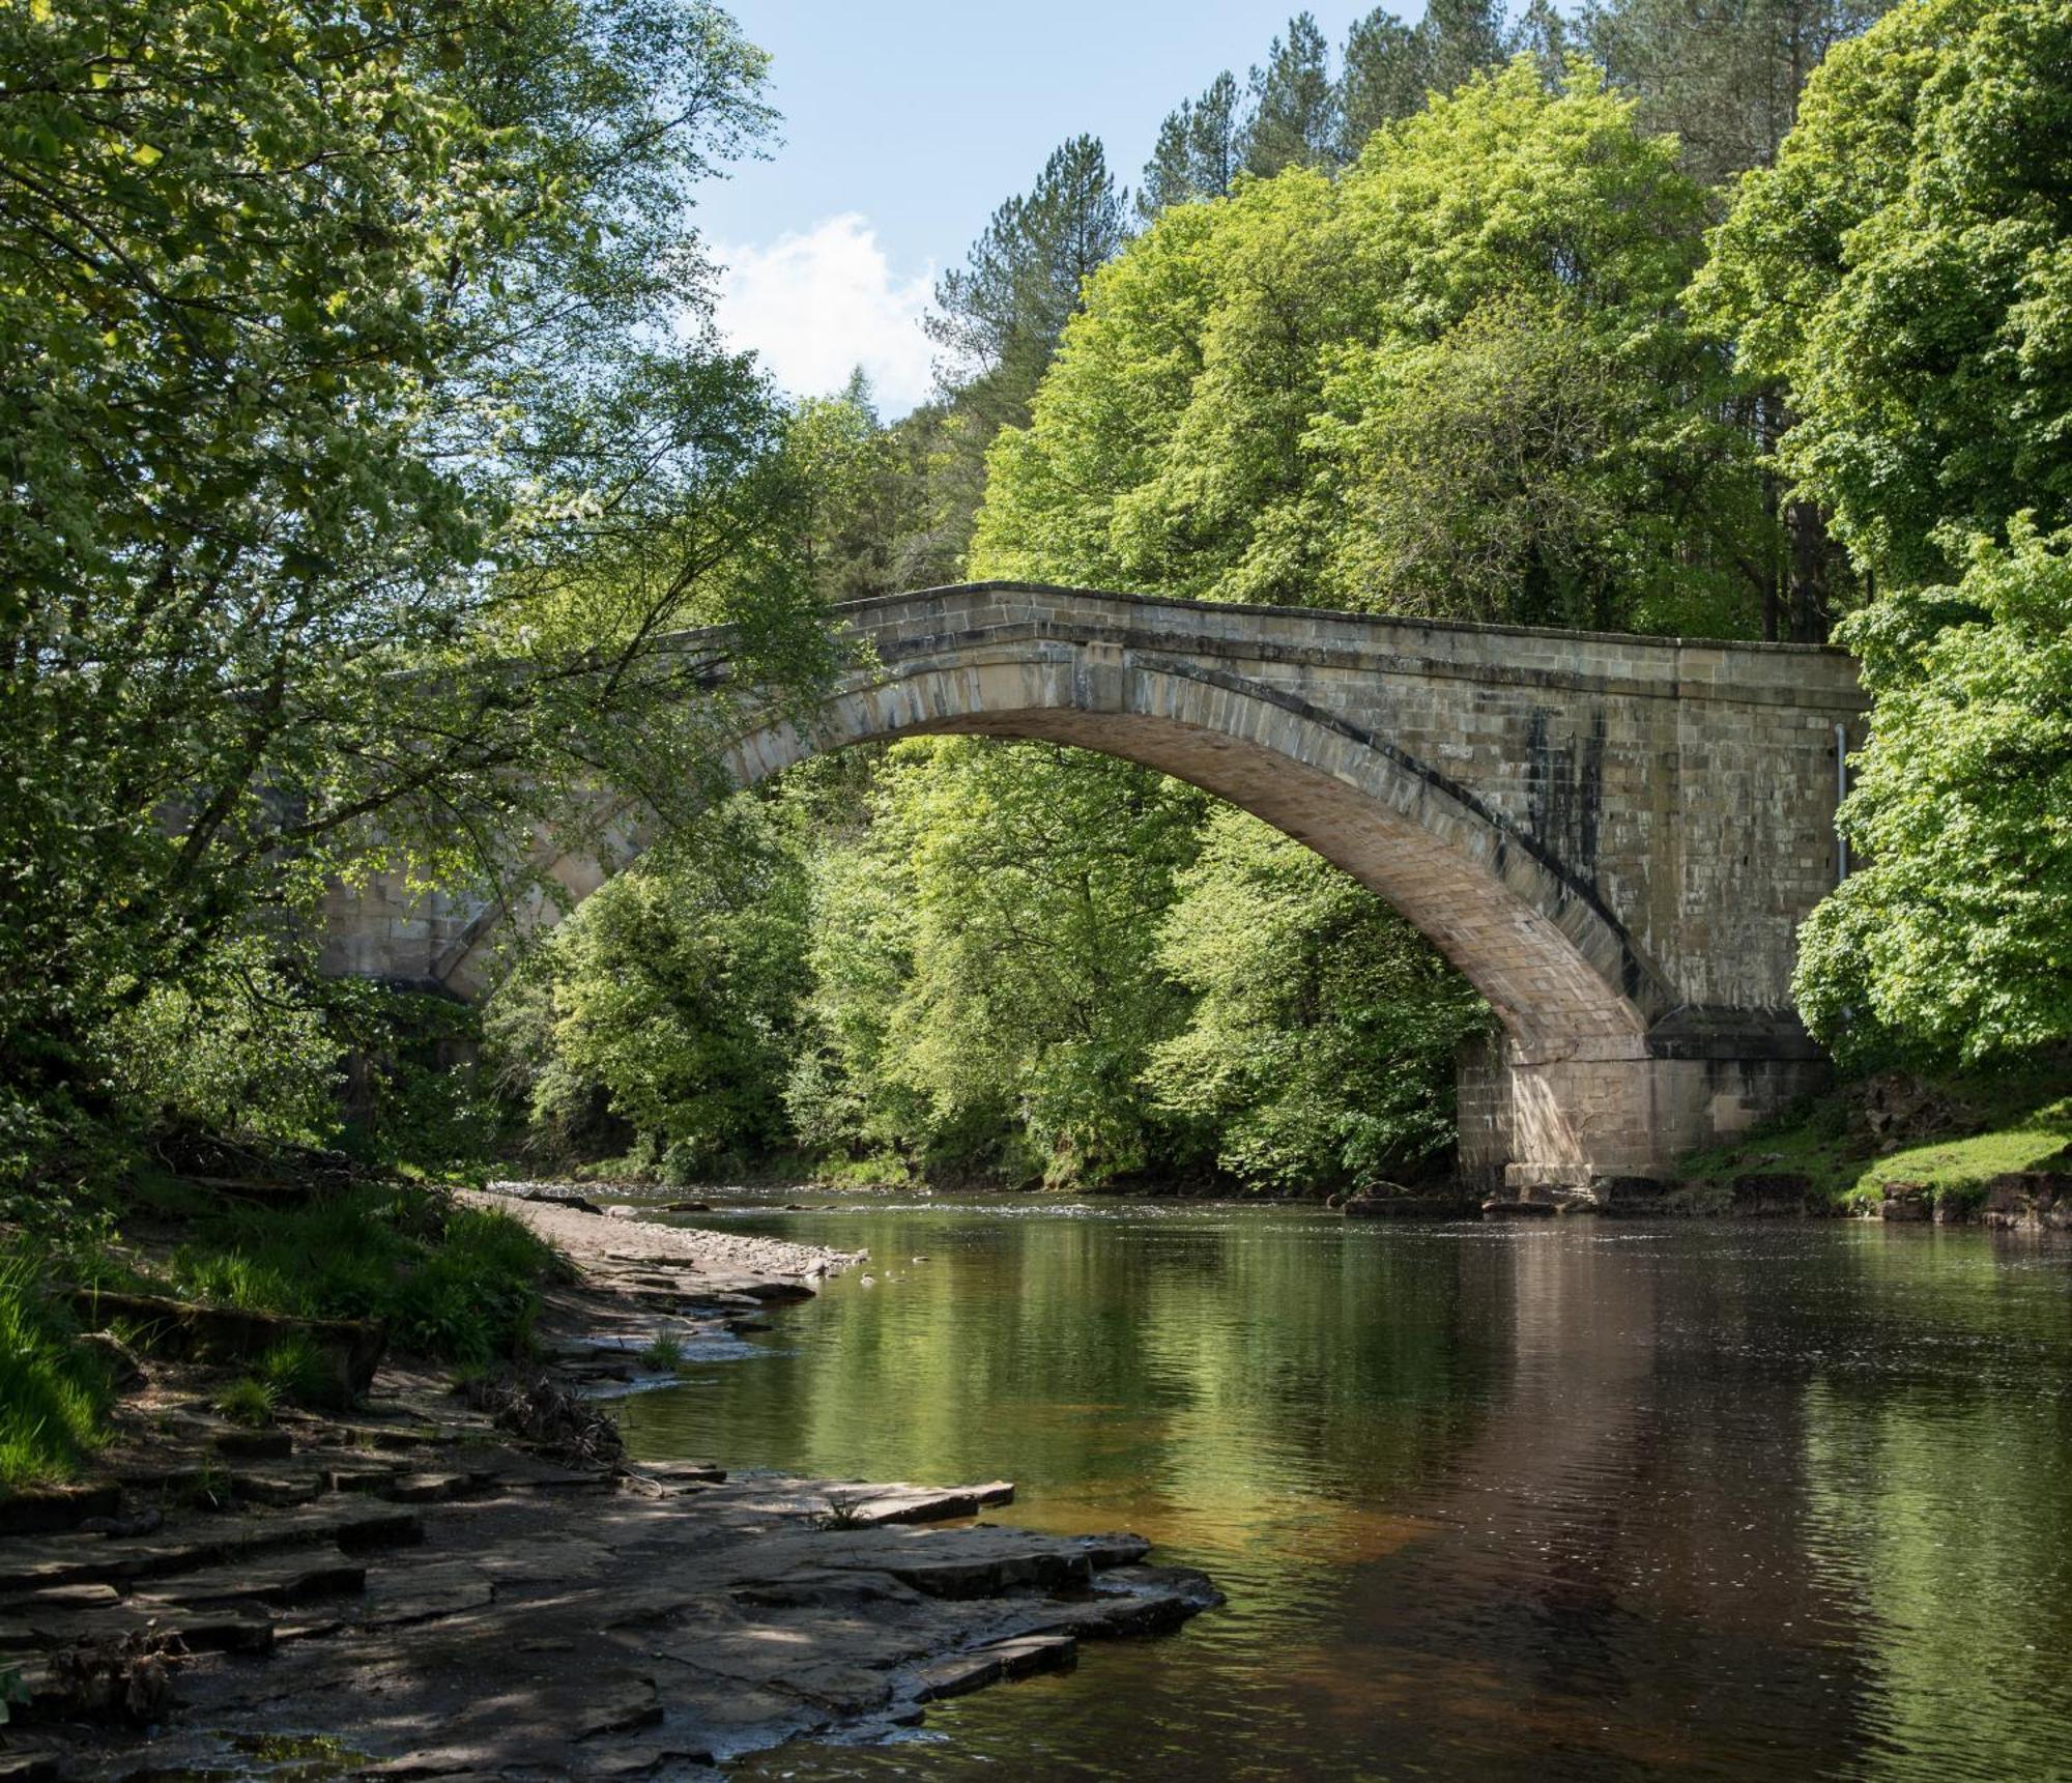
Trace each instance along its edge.
<instances>
[{"instance_id":1,"label":"sunlit grassy bank right of the bridge pier at water's edge","mask_svg":"<svg viewBox=\"0 0 2072 1783\"><path fill-rule=\"evenodd\" d=\"M1888 1182L1975 1207L1995 1176L2072 1169L2072 1072L2047 1059L2004 1072L1886 1074L1842 1084L1730 1147L1687 1157L1689 1180L1805 1178L1842 1209L1875 1207Z\"/></svg>"}]
</instances>

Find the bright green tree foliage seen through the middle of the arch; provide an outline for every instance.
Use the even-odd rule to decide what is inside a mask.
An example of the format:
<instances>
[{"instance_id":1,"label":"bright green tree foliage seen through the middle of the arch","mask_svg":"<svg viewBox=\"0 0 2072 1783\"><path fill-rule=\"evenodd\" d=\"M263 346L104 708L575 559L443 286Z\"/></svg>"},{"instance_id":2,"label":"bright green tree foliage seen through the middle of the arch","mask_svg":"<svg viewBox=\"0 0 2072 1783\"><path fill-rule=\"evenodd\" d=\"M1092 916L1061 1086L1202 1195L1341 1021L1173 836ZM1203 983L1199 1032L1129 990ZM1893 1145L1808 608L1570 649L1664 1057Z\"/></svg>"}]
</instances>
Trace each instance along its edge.
<instances>
[{"instance_id":1,"label":"bright green tree foliage seen through the middle of the arch","mask_svg":"<svg viewBox=\"0 0 2072 1783\"><path fill-rule=\"evenodd\" d=\"M808 1142L1100 1182L1171 1159L1135 1080L1185 1003L1156 921L1200 796L1046 744L899 744L854 862L816 879Z\"/></svg>"}]
</instances>

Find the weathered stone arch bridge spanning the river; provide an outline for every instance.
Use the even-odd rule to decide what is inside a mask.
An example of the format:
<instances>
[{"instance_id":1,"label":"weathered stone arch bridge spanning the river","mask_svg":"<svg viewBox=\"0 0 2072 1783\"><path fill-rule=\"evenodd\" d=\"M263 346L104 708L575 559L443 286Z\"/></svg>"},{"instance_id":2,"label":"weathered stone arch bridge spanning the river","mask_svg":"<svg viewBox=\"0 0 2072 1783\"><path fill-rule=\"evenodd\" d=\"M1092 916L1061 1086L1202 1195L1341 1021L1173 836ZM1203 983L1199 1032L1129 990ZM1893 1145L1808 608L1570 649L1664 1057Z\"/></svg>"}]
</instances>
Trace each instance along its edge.
<instances>
[{"instance_id":1,"label":"weathered stone arch bridge spanning the river","mask_svg":"<svg viewBox=\"0 0 2072 1783\"><path fill-rule=\"evenodd\" d=\"M750 717L736 782L976 732L1241 804L1386 898L1496 1010L1500 1043L1461 1066L1463 1169L1486 1186L1662 1176L1821 1074L1788 985L1794 931L1844 871L1834 809L1865 701L1840 651L1011 583L839 618L868 666L816 724ZM605 869L549 877L572 900ZM503 912L377 879L327 918L329 970L474 997Z\"/></svg>"}]
</instances>

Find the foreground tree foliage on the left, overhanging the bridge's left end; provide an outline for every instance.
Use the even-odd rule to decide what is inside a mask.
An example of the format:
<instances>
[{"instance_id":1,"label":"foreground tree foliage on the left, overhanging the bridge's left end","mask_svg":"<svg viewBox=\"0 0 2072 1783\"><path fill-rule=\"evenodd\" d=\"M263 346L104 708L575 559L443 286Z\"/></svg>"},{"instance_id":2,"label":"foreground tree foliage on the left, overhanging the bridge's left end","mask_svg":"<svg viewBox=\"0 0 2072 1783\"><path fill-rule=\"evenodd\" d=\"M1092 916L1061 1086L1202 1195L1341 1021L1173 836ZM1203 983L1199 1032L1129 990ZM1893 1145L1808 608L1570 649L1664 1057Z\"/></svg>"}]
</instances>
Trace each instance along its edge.
<instances>
[{"instance_id":1,"label":"foreground tree foliage on the left, overhanging the bridge's left end","mask_svg":"<svg viewBox=\"0 0 2072 1783\"><path fill-rule=\"evenodd\" d=\"M25 1159L112 1103L126 1010L193 1028L327 877L522 871L489 838L601 773L690 794L667 628L825 649L773 404L698 326L688 195L767 126L707 0L12 6L0 66Z\"/></svg>"}]
</instances>

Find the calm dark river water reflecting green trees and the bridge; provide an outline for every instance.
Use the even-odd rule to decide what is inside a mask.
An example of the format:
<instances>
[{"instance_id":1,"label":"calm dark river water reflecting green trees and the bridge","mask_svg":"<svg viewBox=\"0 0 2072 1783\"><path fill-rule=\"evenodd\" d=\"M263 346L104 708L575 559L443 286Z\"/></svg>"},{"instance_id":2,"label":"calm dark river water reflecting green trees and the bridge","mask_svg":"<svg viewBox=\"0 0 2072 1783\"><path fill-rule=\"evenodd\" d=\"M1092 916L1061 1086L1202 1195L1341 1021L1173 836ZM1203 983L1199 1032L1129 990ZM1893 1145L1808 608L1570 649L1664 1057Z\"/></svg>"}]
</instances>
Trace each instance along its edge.
<instances>
[{"instance_id":1,"label":"calm dark river water reflecting green trees and the bridge","mask_svg":"<svg viewBox=\"0 0 2072 1783\"><path fill-rule=\"evenodd\" d=\"M744 1779L2072 1779L2072 1252L870 1202L634 1453L961 1482L1229 1592ZM713 1221L713 1223L733 1223Z\"/></svg>"}]
</instances>

